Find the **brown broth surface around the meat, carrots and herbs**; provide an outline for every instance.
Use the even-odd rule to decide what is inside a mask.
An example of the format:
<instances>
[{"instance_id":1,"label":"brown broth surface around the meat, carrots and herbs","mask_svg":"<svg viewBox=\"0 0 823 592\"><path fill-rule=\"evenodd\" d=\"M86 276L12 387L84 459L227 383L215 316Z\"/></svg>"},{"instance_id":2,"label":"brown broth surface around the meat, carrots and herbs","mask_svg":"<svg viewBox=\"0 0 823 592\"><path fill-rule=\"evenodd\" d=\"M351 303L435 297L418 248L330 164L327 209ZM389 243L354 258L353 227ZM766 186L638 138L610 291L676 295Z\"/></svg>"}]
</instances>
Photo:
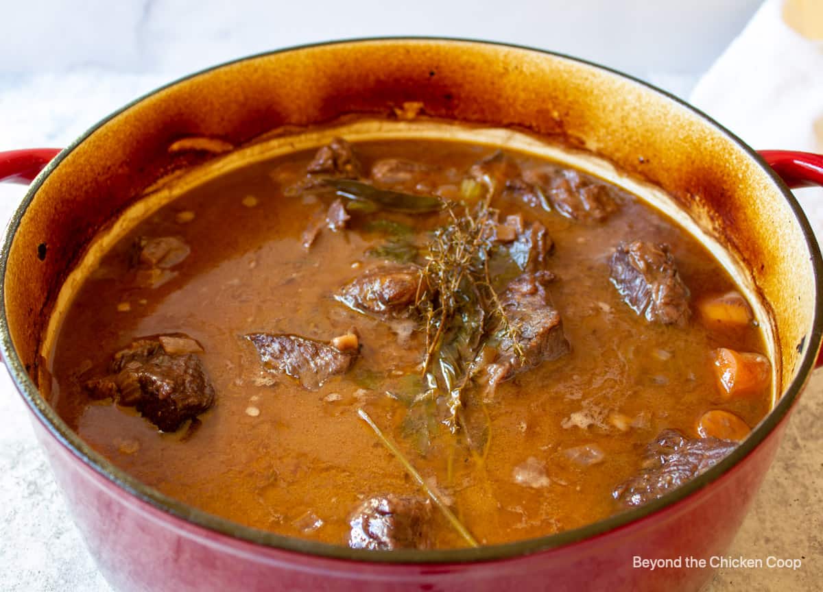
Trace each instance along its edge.
<instances>
[{"instance_id":1,"label":"brown broth surface around the meat, carrots and herbs","mask_svg":"<svg viewBox=\"0 0 823 592\"><path fill-rule=\"evenodd\" d=\"M356 150L365 169L384 156L434 164L439 183L459 183L491 152L430 141L370 142ZM291 155L228 173L157 211L106 255L63 320L52 361L53 405L96 451L151 487L244 525L345 543L349 514L364 497L420 493L357 416L362 406L424 478L451 498L478 541L504 543L619 511L612 488L636 473L645 444L663 428L696 437L696 421L709 409L728 409L753 427L770 409L767 391L723 400L709 357L721 346L765 353L756 326L707 327L696 312L686 327L660 326L621 302L608 280L607 259L617 243L635 238L671 245L693 308L701 298L735 288L700 243L627 197L604 224L528 210L556 243L547 266L559 280L549 290L571 353L500 386L486 405L491 440L485 461L442 426L430 445L421 446L425 438L404 424L407 407L384 395L400 387L394 374L413 372L419 363L421 335L412 336L412 347L393 347L396 336L383 322L331 298L379 263L364 252L384 238L360 233L362 224L355 224L341 233L323 231L309 252L300 245L310 216L328 201L305 203L282 190L300 178L310 158ZM244 206L248 196L255 206ZM504 213L513 207L497 206ZM193 212L193 220L181 224L181 211ZM433 224L421 216L392 217L417 229ZM135 287L129 270L129 248L140 235L180 236L192 247L174 268L179 275L156 289ZM119 310L122 303L128 311ZM360 358L319 391L262 372L256 351L242 339L267 331L329 340L351 326L360 332ZM185 442L185 428L159 432L133 409L89 400L81 388L88 377L105 373L111 355L135 337L174 331L200 341L217 393L216 405ZM663 360L658 350L671 355ZM339 396L324 400L332 394ZM248 414L250 407L259 414ZM636 425L617 429L608 420L613 413ZM581 444L600 446L602 462L582 467L565 456ZM529 457L545 464L549 487L514 483L513 467ZM323 521L316 529L315 518ZM437 546L465 544L442 517L436 520Z\"/></svg>"}]
</instances>

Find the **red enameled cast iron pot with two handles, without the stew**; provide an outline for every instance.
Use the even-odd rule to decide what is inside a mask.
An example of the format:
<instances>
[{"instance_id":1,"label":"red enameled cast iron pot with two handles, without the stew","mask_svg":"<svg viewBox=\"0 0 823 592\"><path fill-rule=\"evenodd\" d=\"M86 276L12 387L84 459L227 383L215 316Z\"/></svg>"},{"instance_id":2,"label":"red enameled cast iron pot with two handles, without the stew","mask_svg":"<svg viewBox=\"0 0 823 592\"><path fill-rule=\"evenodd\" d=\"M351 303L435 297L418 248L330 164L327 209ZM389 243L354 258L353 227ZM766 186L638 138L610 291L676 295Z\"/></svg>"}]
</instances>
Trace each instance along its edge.
<instances>
[{"instance_id":1,"label":"red enameled cast iron pot with two handles, without the stew","mask_svg":"<svg viewBox=\"0 0 823 592\"><path fill-rule=\"evenodd\" d=\"M602 155L669 192L723 245L770 317L777 367L774 410L741 446L658 501L578 530L392 554L288 539L175 502L63 423L38 391L48 379L40 339L54 297L106 222L161 176L208 158L167 150L171 143L208 136L239 146L286 125L391 116L408 101L434 118L515 127ZM59 154L0 154L0 178L34 180L2 246L2 354L86 544L117 590L695 590L708 568L634 569L632 557L723 554L821 342L821 253L788 187L823 182L823 157L758 155L660 90L532 49L371 39L267 53L138 99Z\"/></svg>"}]
</instances>

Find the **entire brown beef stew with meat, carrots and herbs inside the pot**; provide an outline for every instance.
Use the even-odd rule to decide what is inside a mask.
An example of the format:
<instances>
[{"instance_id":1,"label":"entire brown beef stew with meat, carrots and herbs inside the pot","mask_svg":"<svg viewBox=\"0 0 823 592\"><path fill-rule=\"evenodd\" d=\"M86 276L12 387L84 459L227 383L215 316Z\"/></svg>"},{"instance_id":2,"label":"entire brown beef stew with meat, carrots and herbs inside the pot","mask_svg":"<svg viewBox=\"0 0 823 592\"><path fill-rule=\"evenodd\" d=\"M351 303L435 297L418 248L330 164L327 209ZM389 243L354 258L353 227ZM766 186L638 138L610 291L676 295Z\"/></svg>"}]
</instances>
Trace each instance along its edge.
<instances>
[{"instance_id":1,"label":"entire brown beef stew with meat, carrots and herbs inside the pot","mask_svg":"<svg viewBox=\"0 0 823 592\"><path fill-rule=\"evenodd\" d=\"M770 410L749 303L638 198L529 155L336 139L226 173L86 279L53 405L144 483L355 548L586 525Z\"/></svg>"}]
</instances>

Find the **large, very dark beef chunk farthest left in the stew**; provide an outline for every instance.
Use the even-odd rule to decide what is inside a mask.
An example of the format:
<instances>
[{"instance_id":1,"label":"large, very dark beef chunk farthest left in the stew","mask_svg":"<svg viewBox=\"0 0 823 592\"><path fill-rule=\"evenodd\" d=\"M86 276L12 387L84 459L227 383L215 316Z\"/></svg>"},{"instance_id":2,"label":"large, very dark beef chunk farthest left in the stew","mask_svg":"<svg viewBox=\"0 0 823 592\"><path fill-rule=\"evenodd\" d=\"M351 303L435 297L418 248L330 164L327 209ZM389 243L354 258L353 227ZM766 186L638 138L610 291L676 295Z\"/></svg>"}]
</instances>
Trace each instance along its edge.
<instances>
[{"instance_id":1,"label":"large, very dark beef chunk farthest left in the stew","mask_svg":"<svg viewBox=\"0 0 823 592\"><path fill-rule=\"evenodd\" d=\"M86 390L92 397L134 407L164 432L174 432L214 403L202 362L190 352L195 346L199 348L185 335L133 341L114 354L109 376L86 382Z\"/></svg>"}]
</instances>

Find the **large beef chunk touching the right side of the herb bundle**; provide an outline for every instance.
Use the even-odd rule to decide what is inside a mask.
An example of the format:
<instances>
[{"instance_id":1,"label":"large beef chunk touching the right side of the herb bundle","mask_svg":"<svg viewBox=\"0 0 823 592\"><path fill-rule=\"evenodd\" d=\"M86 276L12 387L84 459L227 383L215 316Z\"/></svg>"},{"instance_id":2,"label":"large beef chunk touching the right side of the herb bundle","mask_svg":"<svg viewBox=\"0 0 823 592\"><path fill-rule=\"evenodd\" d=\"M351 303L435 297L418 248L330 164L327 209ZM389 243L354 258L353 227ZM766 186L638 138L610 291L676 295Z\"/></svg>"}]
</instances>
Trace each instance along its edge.
<instances>
[{"instance_id":1,"label":"large beef chunk touching the right side of the herb bundle","mask_svg":"<svg viewBox=\"0 0 823 592\"><path fill-rule=\"evenodd\" d=\"M549 303L543 286L553 279L547 271L523 274L512 280L500 294L500 304L518 331L516 343L522 355L518 354L515 341L504 334L500 352L487 368L491 386L569 352L560 313Z\"/></svg>"}]
</instances>

